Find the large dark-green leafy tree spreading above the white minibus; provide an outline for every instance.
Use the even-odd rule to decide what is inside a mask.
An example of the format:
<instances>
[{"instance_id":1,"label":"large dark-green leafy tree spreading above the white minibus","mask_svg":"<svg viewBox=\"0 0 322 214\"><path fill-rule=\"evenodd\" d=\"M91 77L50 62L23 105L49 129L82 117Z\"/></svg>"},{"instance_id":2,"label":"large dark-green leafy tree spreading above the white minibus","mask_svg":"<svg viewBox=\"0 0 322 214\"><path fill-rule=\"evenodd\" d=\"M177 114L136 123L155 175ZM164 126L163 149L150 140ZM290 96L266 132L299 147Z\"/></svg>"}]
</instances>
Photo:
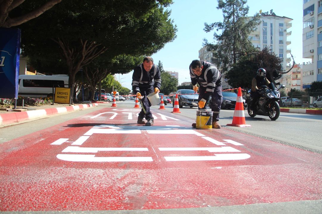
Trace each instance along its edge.
<instances>
[{"instance_id":1,"label":"large dark-green leafy tree spreading above the white minibus","mask_svg":"<svg viewBox=\"0 0 322 214\"><path fill-rule=\"evenodd\" d=\"M103 53L109 60L120 54L152 55L174 40L176 26L169 19L170 12L164 11L164 6L171 3L171 0L63 1L41 19L20 26L24 35L23 54L37 61L51 53L54 58L50 60L66 64L65 73L72 85L81 68Z\"/></svg>"}]
</instances>

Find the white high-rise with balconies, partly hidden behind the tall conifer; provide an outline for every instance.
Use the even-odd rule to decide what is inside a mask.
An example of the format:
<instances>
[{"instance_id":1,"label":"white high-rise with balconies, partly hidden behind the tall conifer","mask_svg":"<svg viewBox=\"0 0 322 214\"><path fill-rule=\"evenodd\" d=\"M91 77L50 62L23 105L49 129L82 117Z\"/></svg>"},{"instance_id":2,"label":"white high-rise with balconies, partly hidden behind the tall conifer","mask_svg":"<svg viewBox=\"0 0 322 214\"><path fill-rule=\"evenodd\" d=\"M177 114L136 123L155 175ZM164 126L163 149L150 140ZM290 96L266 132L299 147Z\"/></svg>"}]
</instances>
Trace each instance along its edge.
<instances>
[{"instance_id":1,"label":"white high-rise with balconies, partly hidden behind the tall conifer","mask_svg":"<svg viewBox=\"0 0 322 214\"><path fill-rule=\"evenodd\" d=\"M283 68L291 61L291 58L287 57L287 54L291 52L290 49L287 49L287 46L291 44L287 37L292 33L289 31L289 28L292 27L292 23L290 23L292 20L285 16L276 15L273 10L260 13L260 22L257 28L248 35L255 48L259 50L269 48L271 52L281 58ZM207 51L206 47L199 50L199 59L212 63L218 60L213 57L211 51ZM223 74L223 89L228 89L230 86L224 76Z\"/></svg>"}]
</instances>

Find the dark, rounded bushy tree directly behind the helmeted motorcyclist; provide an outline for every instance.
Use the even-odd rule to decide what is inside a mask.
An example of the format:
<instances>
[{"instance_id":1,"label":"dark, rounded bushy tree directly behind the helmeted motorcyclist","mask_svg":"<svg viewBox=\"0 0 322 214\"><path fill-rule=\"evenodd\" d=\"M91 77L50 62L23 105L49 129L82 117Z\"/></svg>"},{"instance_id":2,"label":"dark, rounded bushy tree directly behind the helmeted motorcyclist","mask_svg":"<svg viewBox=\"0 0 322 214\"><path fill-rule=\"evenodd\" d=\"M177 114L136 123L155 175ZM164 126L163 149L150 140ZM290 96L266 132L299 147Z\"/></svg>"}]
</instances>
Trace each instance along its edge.
<instances>
[{"instance_id":1,"label":"dark, rounded bushy tree directly behind the helmeted motorcyclist","mask_svg":"<svg viewBox=\"0 0 322 214\"><path fill-rule=\"evenodd\" d=\"M281 59L268 49L260 52L254 52L242 56L237 63L225 74L228 84L233 88L251 88L251 80L256 75L259 68L266 70L266 77L270 82L275 84L275 80L282 75L278 72L281 70Z\"/></svg>"}]
</instances>

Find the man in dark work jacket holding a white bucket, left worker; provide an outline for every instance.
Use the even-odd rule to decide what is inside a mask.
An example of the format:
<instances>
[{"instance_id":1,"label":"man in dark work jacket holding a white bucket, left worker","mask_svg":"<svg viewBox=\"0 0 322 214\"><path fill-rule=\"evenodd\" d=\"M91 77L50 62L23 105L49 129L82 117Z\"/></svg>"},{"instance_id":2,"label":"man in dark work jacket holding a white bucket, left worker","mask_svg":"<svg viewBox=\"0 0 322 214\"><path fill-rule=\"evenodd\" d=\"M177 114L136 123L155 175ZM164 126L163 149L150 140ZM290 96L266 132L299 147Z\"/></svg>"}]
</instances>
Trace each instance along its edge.
<instances>
[{"instance_id":1,"label":"man in dark work jacket holding a white bucket, left worker","mask_svg":"<svg viewBox=\"0 0 322 214\"><path fill-rule=\"evenodd\" d=\"M143 63L134 68L132 75L132 91L137 95L142 110L137 117L138 124L152 126L154 119L150 112L151 103L147 99L147 95L153 92L160 92L161 73L159 67L153 63L153 58L145 57ZM147 122L144 121L144 118Z\"/></svg>"}]
</instances>

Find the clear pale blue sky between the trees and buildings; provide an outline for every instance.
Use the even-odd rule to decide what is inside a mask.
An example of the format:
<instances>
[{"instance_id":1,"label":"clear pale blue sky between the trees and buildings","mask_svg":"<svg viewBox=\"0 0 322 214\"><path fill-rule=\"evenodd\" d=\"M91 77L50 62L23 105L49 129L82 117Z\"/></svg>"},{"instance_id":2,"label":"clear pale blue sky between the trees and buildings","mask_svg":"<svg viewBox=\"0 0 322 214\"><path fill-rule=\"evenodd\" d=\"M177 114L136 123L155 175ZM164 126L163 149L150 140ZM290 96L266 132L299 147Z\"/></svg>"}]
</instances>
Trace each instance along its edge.
<instances>
[{"instance_id":1,"label":"clear pale blue sky between the trees and buildings","mask_svg":"<svg viewBox=\"0 0 322 214\"><path fill-rule=\"evenodd\" d=\"M178 72L179 85L191 81L189 65L192 60L199 59L198 51L203 47L203 39L213 43L214 31L206 33L204 23L223 21L222 11L216 8L217 5L217 0L174 0L174 4L167 7L168 10L172 10L170 18L177 25L177 38L151 57L156 65L161 61L164 70ZM288 29L292 34L287 37L287 40L291 41L287 49L291 49L295 63L302 64L309 61L302 58L303 0L248 0L247 5L248 16L253 16L260 10L269 12L273 9L277 16L293 19L292 27ZM123 75L116 74L122 86L131 90L132 73L133 71Z\"/></svg>"}]
</instances>

